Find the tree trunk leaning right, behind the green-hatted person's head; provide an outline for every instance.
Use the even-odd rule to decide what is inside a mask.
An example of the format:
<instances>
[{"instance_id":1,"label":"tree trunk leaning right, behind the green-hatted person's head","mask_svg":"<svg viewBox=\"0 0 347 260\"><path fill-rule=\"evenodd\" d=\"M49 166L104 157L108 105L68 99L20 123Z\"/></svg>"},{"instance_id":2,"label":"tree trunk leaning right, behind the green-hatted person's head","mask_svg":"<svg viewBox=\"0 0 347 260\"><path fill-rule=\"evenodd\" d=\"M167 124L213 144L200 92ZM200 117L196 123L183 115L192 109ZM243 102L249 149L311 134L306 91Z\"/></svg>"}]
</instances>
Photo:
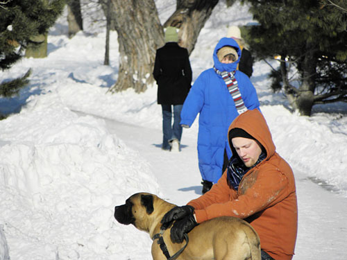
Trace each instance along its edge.
<instances>
[{"instance_id":1,"label":"tree trunk leaning right, behind the green-hatted person's head","mask_svg":"<svg viewBox=\"0 0 347 260\"><path fill-rule=\"evenodd\" d=\"M164 27L180 28L179 44L190 54L194 50L198 34L217 3L218 0L177 0L176 11L164 23Z\"/></svg>"}]
</instances>

